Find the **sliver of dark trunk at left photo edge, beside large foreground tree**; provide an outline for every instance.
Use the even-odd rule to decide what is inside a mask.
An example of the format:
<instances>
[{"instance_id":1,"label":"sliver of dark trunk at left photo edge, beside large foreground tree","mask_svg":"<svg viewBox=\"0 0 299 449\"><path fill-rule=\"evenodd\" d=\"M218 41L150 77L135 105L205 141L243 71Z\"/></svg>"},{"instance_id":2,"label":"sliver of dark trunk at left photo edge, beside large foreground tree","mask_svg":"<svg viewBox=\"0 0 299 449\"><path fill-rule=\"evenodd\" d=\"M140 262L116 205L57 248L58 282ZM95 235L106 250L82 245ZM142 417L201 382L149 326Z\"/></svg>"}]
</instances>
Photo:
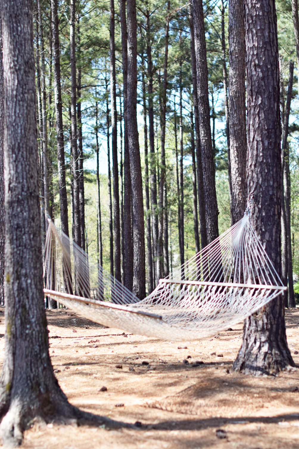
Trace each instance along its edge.
<instances>
[{"instance_id":1,"label":"sliver of dark trunk at left photo edge, beside large foreground tree","mask_svg":"<svg viewBox=\"0 0 299 449\"><path fill-rule=\"evenodd\" d=\"M4 216L4 78L2 60L2 18L0 6L0 306L4 306L4 243L5 243L5 216Z\"/></svg>"}]
</instances>

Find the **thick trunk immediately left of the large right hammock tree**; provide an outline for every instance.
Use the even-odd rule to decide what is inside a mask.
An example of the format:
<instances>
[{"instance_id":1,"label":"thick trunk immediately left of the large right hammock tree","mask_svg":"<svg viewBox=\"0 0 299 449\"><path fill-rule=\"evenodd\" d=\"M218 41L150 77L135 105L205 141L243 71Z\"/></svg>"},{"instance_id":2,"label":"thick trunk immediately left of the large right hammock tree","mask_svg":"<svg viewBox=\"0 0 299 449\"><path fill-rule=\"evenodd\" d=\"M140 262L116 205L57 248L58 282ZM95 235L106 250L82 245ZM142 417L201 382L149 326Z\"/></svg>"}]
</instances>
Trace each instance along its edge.
<instances>
[{"instance_id":1,"label":"thick trunk immediately left of the large right hammock tree","mask_svg":"<svg viewBox=\"0 0 299 449\"><path fill-rule=\"evenodd\" d=\"M246 209L246 87L243 0L229 1L230 171L233 222Z\"/></svg>"}]
</instances>

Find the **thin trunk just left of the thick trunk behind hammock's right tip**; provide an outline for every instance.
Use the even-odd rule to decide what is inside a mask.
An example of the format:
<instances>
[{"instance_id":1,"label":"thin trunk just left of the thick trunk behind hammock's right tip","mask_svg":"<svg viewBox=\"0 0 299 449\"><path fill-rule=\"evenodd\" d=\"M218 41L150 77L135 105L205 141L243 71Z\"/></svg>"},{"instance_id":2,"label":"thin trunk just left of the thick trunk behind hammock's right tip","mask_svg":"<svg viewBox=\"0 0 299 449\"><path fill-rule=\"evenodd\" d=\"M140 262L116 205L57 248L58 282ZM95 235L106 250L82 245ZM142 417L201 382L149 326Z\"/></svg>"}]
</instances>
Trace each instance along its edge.
<instances>
[{"instance_id":1,"label":"thin trunk just left of the thick trunk behind hammock's right tip","mask_svg":"<svg viewBox=\"0 0 299 449\"><path fill-rule=\"evenodd\" d=\"M222 47L222 73L223 73L223 91L224 91L224 109L225 109L225 132L227 142L227 164L228 164L228 176L229 176L229 194L230 194L230 224L234 224L233 216L233 193L232 193L232 181L231 181L231 168L230 168L230 110L229 102L227 98L227 70L226 70L226 44L225 44L225 32L224 32L224 14L225 7L223 0L221 0L221 47Z\"/></svg>"}]
</instances>

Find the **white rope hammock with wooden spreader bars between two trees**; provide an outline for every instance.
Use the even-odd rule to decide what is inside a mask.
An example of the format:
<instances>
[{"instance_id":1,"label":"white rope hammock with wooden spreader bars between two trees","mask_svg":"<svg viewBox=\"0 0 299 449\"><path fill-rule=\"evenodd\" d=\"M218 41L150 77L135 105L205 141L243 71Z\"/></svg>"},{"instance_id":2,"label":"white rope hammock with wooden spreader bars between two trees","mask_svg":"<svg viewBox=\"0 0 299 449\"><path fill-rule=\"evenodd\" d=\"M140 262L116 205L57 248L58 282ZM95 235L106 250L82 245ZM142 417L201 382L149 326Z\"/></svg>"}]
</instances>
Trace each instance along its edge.
<instances>
[{"instance_id":1,"label":"white rope hammock with wooden spreader bars between two trees","mask_svg":"<svg viewBox=\"0 0 299 449\"><path fill-rule=\"evenodd\" d=\"M141 301L48 221L44 295L125 332L198 340L234 326L287 289L247 212Z\"/></svg>"}]
</instances>

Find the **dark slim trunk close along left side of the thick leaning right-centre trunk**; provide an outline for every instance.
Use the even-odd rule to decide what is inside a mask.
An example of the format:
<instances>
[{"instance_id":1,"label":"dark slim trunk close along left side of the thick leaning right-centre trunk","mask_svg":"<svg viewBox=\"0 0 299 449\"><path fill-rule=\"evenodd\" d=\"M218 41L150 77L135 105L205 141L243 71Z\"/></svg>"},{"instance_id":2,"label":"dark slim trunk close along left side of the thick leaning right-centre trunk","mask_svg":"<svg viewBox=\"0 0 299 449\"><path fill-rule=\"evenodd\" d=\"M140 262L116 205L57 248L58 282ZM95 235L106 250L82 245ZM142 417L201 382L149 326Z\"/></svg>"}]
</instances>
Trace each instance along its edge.
<instances>
[{"instance_id":1,"label":"dark slim trunk close along left side of the thick leaning right-centre trunk","mask_svg":"<svg viewBox=\"0 0 299 449\"><path fill-rule=\"evenodd\" d=\"M194 106L194 116L195 116L194 121L195 121L195 135L196 135L196 145L195 145L196 178L197 178L197 194L198 194L198 209L199 209L200 241L201 247L204 248L205 246L207 246L208 240L207 240L207 227L206 227L205 204L204 204L204 182L203 182L203 166L201 161L201 147L200 147L194 26L193 26L193 12L191 3L189 4L189 24L190 24L190 53L191 53L192 86L193 86L193 106Z\"/></svg>"}]
</instances>

